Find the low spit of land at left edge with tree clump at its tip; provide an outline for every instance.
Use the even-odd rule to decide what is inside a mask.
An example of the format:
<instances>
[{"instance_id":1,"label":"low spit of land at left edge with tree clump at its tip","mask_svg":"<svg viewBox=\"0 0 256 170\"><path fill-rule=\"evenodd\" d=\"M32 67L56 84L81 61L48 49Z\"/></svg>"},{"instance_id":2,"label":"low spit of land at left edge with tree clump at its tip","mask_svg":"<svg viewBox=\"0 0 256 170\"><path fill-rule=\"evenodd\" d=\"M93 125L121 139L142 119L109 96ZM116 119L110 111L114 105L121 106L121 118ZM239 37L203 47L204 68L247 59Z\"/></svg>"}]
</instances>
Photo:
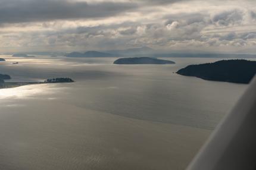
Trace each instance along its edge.
<instances>
[{"instance_id":1,"label":"low spit of land at left edge with tree clump at its tip","mask_svg":"<svg viewBox=\"0 0 256 170\"><path fill-rule=\"evenodd\" d=\"M0 89L12 88L18 86L25 86L29 84L48 84L48 83L73 83L74 80L71 78L48 78L45 81L34 81L34 82L5 82L4 80L11 79L10 75L0 74Z\"/></svg>"}]
</instances>

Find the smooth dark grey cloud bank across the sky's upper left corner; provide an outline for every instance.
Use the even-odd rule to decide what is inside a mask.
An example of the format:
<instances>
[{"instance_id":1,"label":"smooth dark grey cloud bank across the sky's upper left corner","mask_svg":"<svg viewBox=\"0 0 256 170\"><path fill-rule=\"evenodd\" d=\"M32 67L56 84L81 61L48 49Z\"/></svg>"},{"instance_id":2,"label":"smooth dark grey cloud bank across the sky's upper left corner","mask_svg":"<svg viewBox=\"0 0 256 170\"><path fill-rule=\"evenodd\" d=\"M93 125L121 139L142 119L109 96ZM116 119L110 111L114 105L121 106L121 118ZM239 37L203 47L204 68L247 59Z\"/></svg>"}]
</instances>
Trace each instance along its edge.
<instances>
[{"instance_id":1,"label":"smooth dark grey cloud bank across the sky's upper left corner","mask_svg":"<svg viewBox=\"0 0 256 170\"><path fill-rule=\"evenodd\" d=\"M100 18L136 9L132 2L75 2L67 0L1 0L0 23Z\"/></svg>"}]
</instances>

